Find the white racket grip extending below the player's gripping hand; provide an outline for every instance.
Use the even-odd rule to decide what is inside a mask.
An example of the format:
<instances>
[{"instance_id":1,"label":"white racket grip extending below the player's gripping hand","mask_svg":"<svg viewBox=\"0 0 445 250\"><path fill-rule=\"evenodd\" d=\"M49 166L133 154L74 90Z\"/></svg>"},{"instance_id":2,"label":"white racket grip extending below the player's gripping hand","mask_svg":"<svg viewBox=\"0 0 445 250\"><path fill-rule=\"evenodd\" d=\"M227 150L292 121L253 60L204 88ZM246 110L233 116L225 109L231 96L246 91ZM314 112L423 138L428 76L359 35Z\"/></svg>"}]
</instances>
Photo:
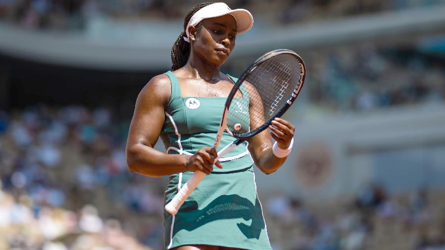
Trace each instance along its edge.
<instances>
[{"instance_id":1,"label":"white racket grip extending below the player's gripping hand","mask_svg":"<svg viewBox=\"0 0 445 250\"><path fill-rule=\"evenodd\" d=\"M193 173L192 177L182 186L182 188L175 195L173 200L171 200L167 205L165 205L165 210L172 215L178 213L179 208L184 204L184 202L189 198L190 194L198 186L199 182L205 177L205 173L201 171L196 171ZM181 183L179 183L181 185Z\"/></svg>"}]
</instances>

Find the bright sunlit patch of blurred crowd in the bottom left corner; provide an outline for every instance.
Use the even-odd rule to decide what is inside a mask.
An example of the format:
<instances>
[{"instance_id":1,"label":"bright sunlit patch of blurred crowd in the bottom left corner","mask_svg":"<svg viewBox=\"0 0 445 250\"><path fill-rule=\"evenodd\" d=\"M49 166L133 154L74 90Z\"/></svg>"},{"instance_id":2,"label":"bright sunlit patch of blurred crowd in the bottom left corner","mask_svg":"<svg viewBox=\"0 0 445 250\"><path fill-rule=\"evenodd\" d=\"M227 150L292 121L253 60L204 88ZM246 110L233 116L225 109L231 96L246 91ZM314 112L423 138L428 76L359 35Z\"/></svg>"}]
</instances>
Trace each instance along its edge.
<instances>
[{"instance_id":1,"label":"bright sunlit patch of blurred crowd in the bottom left corner","mask_svg":"<svg viewBox=\"0 0 445 250\"><path fill-rule=\"evenodd\" d=\"M17 199L0 190L1 250L151 250L123 231L116 219L102 219L94 206L78 212Z\"/></svg>"}]
</instances>

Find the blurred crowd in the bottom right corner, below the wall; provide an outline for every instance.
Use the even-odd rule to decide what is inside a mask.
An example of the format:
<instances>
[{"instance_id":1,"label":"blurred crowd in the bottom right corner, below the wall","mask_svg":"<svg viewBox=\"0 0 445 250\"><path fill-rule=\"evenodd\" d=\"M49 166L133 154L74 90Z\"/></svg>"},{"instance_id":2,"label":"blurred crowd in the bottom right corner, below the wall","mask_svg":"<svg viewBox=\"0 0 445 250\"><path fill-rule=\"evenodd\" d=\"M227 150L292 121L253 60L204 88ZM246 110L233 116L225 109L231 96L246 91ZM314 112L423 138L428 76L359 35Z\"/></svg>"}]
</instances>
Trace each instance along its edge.
<instances>
[{"instance_id":1,"label":"blurred crowd in the bottom right corner, below the wall","mask_svg":"<svg viewBox=\"0 0 445 250\"><path fill-rule=\"evenodd\" d=\"M445 195L419 190L388 195L366 186L354 202L310 206L277 195L267 201L274 250L443 250Z\"/></svg>"}]
</instances>

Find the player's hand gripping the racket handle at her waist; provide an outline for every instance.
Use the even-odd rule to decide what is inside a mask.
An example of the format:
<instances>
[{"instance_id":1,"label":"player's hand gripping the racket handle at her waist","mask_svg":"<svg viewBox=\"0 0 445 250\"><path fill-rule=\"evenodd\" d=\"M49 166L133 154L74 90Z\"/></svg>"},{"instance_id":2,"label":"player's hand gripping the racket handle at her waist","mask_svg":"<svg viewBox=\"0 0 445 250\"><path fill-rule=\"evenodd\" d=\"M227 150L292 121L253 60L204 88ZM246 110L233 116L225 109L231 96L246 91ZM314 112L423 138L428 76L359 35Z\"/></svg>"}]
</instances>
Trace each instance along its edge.
<instances>
[{"instance_id":1,"label":"player's hand gripping the racket handle at her waist","mask_svg":"<svg viewBox=\"0 0 445 250\"><path fill-rule=\"evenodd\" d=\"M199 149L193 156L190 156L187 161L187 169L189 171L201 171L205 174L209 174L213 171L213 163L218 156L214 148L203 147ZM214 163L216 167L222 168L219 161Z\"/></svg>"}]
</instances>

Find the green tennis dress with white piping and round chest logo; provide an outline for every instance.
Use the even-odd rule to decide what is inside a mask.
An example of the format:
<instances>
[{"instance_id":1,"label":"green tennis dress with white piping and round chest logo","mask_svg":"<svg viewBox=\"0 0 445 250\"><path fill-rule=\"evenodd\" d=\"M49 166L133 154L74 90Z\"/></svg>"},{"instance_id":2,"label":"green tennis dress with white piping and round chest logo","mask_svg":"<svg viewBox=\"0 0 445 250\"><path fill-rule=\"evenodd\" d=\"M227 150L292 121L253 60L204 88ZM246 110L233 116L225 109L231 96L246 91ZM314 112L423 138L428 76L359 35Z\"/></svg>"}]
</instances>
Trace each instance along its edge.
<instances>
[{"instance_id":1,"label":"green tennis dress with white piping and round chest logo","mask_svg":"<svg viewBox=\"0 0 445 250\"><path fill-rule=\"evenodd\" d=\"M202 147L211 147L227 98L182 97L178 79L171 71L165 74L170 78L171 97L160 137L167 153L193 155ZM240 90L248 98L247 92ZM239 108L248 110L248 107ZM234 138L224 132L220 147L232 141ZM176 215L164 210L165 247L213 245L249 250L272 249L256 194L253 161L247 151L247 142L219 161L223 168L214 167ZM185 171L169 176L165 204L173 199L192 174Z\"/></svg>"}]
</instances>

